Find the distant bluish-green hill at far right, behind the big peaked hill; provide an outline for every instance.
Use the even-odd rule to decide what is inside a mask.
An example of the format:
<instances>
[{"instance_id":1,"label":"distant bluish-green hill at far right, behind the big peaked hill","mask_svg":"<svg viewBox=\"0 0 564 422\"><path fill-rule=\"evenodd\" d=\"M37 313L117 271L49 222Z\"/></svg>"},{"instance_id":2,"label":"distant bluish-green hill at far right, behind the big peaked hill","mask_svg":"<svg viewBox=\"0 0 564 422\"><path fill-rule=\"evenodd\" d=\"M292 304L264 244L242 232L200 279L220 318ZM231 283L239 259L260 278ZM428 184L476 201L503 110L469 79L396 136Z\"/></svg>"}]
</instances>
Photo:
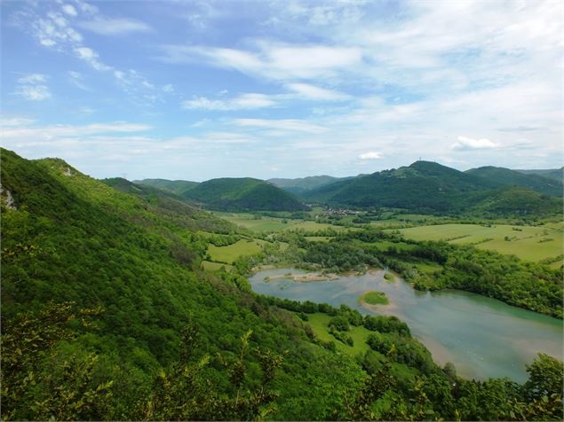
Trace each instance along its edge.
<instances>
[{"instance_id":1,"label":"distant bluish-green hill at far right, behind the big peaked hill","mask_svg":"<svg viewBox=\"0 0 564 422\"><path fill-rule=\"evenodd\" d=\"M536 174L520 173L519 171L510 170L501 167L481 167L466 170L467 175L481 177L496 184L506 184L510 186L520 186L537 191L546 195L562 196L564 189L561 181L556 181L544 176Z\"/></svg>"}]
</instances>

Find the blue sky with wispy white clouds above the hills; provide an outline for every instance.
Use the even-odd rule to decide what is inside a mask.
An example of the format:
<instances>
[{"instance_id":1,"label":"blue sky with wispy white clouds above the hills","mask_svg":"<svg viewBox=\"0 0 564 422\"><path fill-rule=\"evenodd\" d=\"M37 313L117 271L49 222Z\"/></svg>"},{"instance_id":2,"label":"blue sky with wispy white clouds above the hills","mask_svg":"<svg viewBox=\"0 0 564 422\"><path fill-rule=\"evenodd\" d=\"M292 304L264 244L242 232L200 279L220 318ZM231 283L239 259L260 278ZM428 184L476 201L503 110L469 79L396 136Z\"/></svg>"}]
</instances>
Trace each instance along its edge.
<instances>
[{"instance_id":1,"label":"blue sky with wispy white clouds above the hills","mask_svg":"<svg viewBox=\"0 0 564 422\"><path fill-rule=\"evenodd\" d=\"M564 3L0 0L1 145L130 180L560 168Z\"/></svg>"}]
</instances>

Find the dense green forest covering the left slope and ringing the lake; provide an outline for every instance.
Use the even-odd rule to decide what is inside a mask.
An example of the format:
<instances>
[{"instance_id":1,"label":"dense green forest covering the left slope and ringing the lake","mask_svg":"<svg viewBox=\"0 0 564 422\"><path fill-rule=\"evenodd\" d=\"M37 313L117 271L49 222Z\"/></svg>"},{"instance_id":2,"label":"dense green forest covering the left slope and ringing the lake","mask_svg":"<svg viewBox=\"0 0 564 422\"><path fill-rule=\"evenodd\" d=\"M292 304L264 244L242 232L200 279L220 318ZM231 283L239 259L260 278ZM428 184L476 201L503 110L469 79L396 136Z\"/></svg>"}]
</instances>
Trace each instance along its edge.
<instances>
[{"instance_id":1,"label":"dense green forest covering the left slope and ringing the lake","mask_svg":"<svg viewBox=\"0 0 564 422\"><path fill-rule=\"evenodd\" d=\"M206 249L236 238L232 224L155 191L101 183L62 160L4 149L1 158L3 419L562 416L562 363L550 356L530 363L524 385L462 379L433 363L397 318L259 296L245 277L256 262L291 256L338 270L395 265L421 287L470 290L464 274L473 270L491 277L492 295L524 307L536 281L536 310L556 315L561 271L359 231L328 243L280 234L283 251L265 236L265 252L210 273L201 270ZM409 265L417 260L442 270L425 277ZM307 324L314 312L330 316L335 341L365 327L369 352L353 358L316 339Z\"/></svg>"}]
</instances>

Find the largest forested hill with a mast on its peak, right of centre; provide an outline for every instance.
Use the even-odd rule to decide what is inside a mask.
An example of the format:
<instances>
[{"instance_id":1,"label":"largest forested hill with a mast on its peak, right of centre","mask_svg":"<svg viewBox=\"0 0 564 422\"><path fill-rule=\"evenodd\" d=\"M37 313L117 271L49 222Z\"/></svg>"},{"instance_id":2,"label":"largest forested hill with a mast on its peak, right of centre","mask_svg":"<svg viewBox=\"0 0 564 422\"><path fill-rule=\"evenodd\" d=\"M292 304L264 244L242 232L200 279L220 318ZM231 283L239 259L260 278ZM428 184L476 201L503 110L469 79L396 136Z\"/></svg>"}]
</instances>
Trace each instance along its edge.
<instances>
[{"instance_id":1,"label":"largest forested hill with a mast on its peak, right of centre","mask_svg":"<svg viewBox=\"0 0 564 422\"><path fill-rule=\"evenodd\" d=\"M501 187L500 187L501 186ZM511 189L511 188L509 188ZM393 207L417 213L530 215L530 199L542 215L560 212L558 199L547 198L526 188L515 190L513 200L496 206L500 192L508 187L430 161L416 161L409 167L384 170L369 176L336 182L306 192L308 201L342 207ZM506 196L506 195L505 195ZM520 199L526 199L526 203Z\"/></svg>"}]
</instances>

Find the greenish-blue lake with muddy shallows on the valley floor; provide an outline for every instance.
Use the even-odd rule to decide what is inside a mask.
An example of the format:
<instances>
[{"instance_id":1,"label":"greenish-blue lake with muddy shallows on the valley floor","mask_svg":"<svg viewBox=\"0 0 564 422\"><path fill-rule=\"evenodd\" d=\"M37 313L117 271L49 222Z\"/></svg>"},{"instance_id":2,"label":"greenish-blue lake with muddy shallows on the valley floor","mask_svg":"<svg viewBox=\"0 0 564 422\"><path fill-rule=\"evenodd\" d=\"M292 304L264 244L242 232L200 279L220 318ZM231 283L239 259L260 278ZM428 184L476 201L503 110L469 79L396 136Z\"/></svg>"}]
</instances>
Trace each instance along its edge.
<instances>
[{"instance_id":1,"label":"greenish-blue lake with muddy shallows on the valley floor","mask_svg":"<svg viewBox=\"0 0 564 422\"><path fill-rule=\"evenodd\" d=\"M344 303L364 315L398 316L435 362L454 363L465 378L508 377L522 383L528 379L525 365L537 353L562 359L562 321L551 316L474 293L418 292L400 277L394 283L385 281L384 270L309 283L283 277L290 272L305 273L290 268L264 270L249 278L250 285L257 293L278 298L335 307ZM265 277L276 278L265 282ZM367 290L384 292L390 304L378 305L376 312L363 308L358 298Z\"/></svg>"}]
</instances>

